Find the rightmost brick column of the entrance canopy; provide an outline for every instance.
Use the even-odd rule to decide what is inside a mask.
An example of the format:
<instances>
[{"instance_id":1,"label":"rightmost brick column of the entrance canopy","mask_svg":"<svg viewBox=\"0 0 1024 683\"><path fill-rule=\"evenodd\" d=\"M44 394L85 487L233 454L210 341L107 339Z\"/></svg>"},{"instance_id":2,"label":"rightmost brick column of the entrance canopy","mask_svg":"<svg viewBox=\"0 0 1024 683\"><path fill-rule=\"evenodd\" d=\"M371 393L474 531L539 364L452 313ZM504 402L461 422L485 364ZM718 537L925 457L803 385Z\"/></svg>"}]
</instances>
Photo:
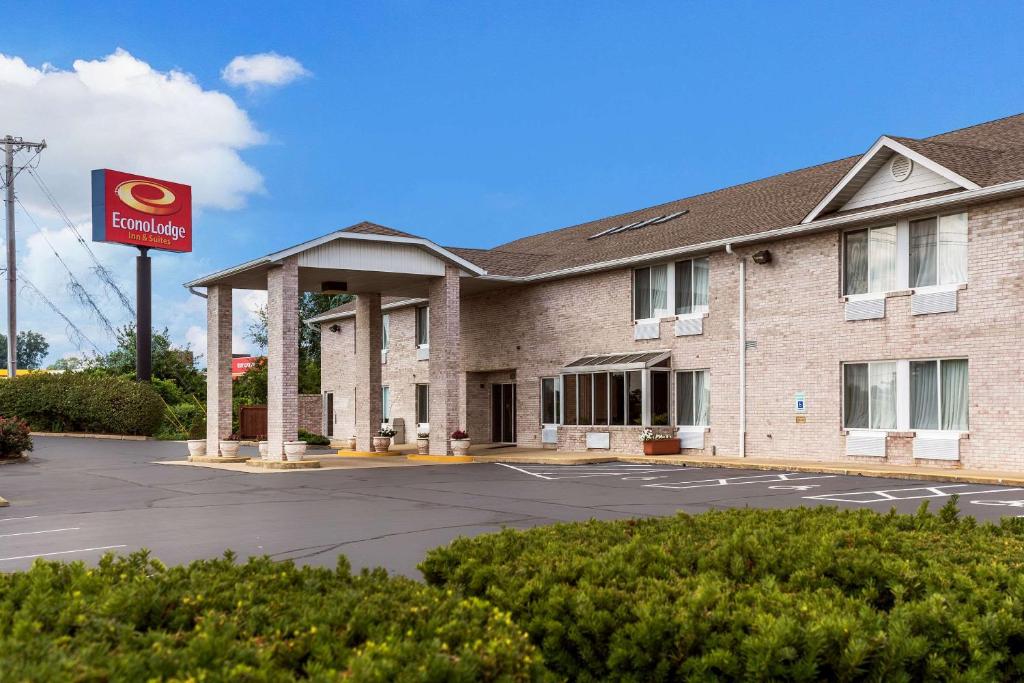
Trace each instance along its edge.
<instances>
[{"instance_id":1,"label":"rightmost brick column of the entrance canopy","mask_svg":"<svg viewBox=\"0 0 1024 683\"><path fill-rule=\"evenodd\" d=\"M444 275L430 283L430 453L436 456L451 455L452 432L466 428L459 272L445 265Z\"/></svg>"}]
</instances>

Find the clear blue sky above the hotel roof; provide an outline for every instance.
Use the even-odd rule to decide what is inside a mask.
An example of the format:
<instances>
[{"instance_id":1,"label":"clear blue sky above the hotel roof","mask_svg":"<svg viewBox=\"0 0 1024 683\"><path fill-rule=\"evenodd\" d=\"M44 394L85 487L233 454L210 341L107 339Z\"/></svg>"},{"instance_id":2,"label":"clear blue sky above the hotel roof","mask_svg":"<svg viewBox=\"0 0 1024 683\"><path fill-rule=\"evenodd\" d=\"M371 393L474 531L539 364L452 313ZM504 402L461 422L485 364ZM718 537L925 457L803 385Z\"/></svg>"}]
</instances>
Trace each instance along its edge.
<instances>
[{"instance_id":1,"label":"clear blue sky above the hotel roof","mask_svg":"<svg viewBox=\"0 0 1024 683\"><path fill-rule=\"evenodd\" d=\"M123 48L245 110L263 189L202 213L196 270L364 219L492 247L1024 111L1020 3L126 4L26 4L0 52ZM222 81L268 51L311 76Z\"/></svg>"}]
</instances>

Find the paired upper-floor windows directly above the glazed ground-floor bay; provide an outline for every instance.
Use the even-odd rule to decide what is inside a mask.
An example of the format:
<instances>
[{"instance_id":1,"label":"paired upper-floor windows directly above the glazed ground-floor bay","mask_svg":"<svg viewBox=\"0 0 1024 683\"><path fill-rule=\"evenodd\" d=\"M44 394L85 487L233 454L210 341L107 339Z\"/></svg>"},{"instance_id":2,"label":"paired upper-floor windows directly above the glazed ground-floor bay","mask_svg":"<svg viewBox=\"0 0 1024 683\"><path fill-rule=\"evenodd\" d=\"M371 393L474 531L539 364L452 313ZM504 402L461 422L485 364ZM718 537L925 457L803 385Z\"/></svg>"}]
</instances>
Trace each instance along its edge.
<instances>
[{"instance_id":1,"label":"paired upper-floor windows directly above the glazed ground-floor bay","mask_svg":"<svg viewBox=\"0 0 1024 683\"><path fill-rule=\"evenodd\" d=\"M708 257L634 268L633 318L707 312L708 268Z\"/></svg>"}]
</instances>

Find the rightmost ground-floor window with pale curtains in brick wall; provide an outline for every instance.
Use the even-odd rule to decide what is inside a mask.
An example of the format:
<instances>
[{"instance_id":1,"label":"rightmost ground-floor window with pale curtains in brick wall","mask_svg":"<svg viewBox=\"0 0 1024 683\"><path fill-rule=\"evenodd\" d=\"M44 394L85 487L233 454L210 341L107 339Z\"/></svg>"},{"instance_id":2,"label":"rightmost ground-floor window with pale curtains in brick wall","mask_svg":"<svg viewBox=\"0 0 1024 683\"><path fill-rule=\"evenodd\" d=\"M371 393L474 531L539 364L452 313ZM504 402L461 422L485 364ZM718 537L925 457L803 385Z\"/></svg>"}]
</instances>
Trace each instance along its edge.
<instances>
[{"instance_id":1,"label":"rightmost ground-floor window with pale curtains in brick wall","mask_svg":"<svg viewBox=\"0 0 1024 683\"><path fill-rule=\"evenodd\" d=\"M967 359L910 361L910 427L968 428Z\"/></svg>"}]
</instances>

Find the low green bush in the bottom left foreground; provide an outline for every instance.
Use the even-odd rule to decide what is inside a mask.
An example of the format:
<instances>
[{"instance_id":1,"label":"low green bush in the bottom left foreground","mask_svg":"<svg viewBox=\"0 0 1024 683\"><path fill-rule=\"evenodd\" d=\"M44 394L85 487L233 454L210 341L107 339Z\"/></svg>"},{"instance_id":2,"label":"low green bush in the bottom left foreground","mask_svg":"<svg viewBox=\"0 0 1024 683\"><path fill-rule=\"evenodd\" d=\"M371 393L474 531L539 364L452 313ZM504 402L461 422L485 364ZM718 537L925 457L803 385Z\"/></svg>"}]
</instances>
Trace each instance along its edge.
<instances>
[{"instance_id":1,"label":"low green bush in the bottom left foreground","mask_svg":"<svg viewBox=\"0 0 1024 683\"><path fill-rule=\"evenodd\" d=\"M145 553L0 574L9 681L527 681L548 676L508 614L383 569L352 575Z\"/></svg>"}]
</instances>

